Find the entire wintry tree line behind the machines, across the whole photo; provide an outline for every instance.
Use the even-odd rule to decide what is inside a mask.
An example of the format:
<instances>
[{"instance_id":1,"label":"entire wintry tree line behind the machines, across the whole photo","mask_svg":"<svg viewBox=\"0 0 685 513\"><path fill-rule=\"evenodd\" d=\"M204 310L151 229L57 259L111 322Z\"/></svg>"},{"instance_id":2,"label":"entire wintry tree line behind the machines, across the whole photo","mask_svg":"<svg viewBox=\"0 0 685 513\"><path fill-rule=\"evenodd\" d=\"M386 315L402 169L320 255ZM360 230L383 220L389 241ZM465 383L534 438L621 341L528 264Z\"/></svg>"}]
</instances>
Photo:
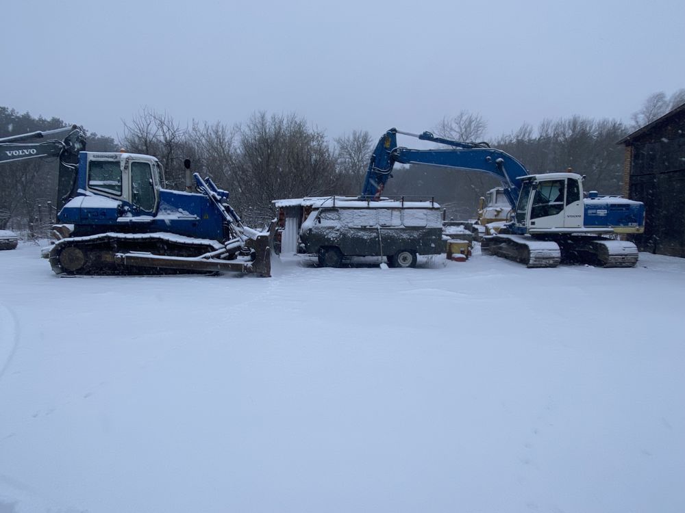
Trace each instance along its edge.
<instances>
[{"instance_id":1,"label":"entire wintry tree line behind the machines, across the whole photo","mask_svg":"<svg viewBox=\"0 0 685 513\"><path fill-rule=\"evenodd\" d=\"M530 172L565 171L586 175L586 189L619 194L623 179L623 147L616 145L631 131L685 103L685 89L667 96L652 94L634 112L631 123L572 116L544 120L538 127L523 124L490 140L490 146L510 153ZM34 118L0 107L0 137L67 126L59 118ZM460 111L432 128L435 135L479 142L487 121ZM88 133L88 150L154 155L164 166L170 189L184 188L183 161L230 193L234 209L251 226L273 218L272 200L360 193L377 137L364 130L330 139L296 114L256 112L245 122L192 122L183 126L166 112L142 109L125 122L123 137ZM449 218L475 215L479 196L499 185L482 173L455 172L432 166L397 166L386 194L434 196ZM55 218L57 166L33 159L0 168L0 229L10 226L42 236Z\"/></svg>"}]
</instances>

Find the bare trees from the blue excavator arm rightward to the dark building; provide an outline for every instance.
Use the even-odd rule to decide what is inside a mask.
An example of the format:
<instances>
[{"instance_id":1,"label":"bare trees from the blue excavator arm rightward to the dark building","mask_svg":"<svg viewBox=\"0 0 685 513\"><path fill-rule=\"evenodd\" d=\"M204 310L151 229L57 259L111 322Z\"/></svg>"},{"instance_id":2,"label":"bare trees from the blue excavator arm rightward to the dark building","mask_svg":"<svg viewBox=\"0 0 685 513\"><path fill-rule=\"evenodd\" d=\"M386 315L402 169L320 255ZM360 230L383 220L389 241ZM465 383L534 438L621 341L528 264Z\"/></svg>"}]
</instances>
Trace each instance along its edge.
<instances>
[{"instance_id":1,"label":"bare trees from the blue excavator arm rightward to the dark building","mask_svg":"<svg viewBox=\"0 0 685 513\"><path fill-rule=\"evenodd\" d=\"M645 99L629 123L584 116L546 119L538 127L524 123L488 144L512 155L531 173L570 169L586 176L584 188L588 191L621 194L625 148L616 142L683 104L685 88L671 96L657 92ZM443 118L432 131L451 140L482 142L487 129L482 116L464 110ZM454 220L475 217L479 197L501 185L483 173L433 166L413 165L396 169L393 174L395 178L386 186L388 194L432 195L445 207L447 218Z\"/></svg>"}]
</instances>

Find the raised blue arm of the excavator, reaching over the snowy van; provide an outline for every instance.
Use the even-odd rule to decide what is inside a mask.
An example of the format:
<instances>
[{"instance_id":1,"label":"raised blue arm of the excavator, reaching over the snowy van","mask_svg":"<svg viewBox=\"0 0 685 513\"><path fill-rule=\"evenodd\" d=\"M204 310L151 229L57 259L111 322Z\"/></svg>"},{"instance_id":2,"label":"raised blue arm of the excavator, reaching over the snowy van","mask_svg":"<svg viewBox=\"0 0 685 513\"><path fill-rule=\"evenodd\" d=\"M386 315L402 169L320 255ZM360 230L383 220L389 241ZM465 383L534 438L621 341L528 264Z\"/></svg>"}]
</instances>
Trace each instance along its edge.
<instances>
[{"instance_id":1,"label":"raised blue arm of the excavator, reaching over the snowy van","mask_svg":"<svg viewBox=\"0 0 685 513\"><path fill-rule=\"evenodd\" d=\"M414 150L397 146L397 134L411 135L419 140L436 142L452 146L444 150ZM460 142L435 137L430 132L419 135L388 130L378 141L373 150L369 168L362 187L361 197L377 199L381 196L385 184L392 176L395 163L423 163L432 166L443 166L462 170L485 172L496 176L504 187L504 194L512 208L521 191L521 177L528 172L519 161L508 153L490 148L482 142Z\"/></svg>"}]
</instances>

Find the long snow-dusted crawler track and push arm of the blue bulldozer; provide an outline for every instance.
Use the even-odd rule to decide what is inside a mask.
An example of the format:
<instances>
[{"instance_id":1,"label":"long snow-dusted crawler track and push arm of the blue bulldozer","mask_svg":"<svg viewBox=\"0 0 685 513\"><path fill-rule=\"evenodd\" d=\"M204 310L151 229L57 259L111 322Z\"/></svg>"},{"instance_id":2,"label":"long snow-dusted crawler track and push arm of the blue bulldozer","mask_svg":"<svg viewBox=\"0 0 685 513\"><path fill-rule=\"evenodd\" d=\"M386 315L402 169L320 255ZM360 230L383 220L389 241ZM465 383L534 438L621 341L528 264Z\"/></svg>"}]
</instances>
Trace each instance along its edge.
<instances>
[{"instance_id":1,"label":"long snow-dusted crawler track and push arm of the blue bulldozer","mask_svg":"<svg viewBox=\"0 0 685 513\"><path fill-rule=\"evenodd\" d=\"M219 254L221 257L216 256ZM251 261L255 259L255 252L242 256L240 245L227 249L217 241L164 233L70 237L57 241L48 258L55 274L68 276L215 273L222 270L270 274L270 269L253 269ZM257 260L264 265L263 258Z\"/></svg>"}]
</instances>

